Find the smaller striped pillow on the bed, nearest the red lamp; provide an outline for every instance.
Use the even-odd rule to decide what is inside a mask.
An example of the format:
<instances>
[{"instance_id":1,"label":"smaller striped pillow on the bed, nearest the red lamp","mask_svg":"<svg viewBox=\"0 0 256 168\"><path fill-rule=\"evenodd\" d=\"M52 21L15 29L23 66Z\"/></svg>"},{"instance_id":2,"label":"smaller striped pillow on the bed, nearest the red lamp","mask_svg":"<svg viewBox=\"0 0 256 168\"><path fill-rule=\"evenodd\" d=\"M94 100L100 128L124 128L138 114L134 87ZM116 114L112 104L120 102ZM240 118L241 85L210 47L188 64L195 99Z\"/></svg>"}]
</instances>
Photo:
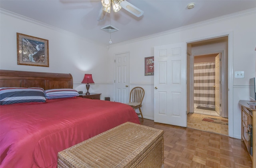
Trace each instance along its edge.
<instances>
[{"instance_id":1,"label":"smaller striped pillow on the bed, nearest the red lamp","mask_svg":"<svg viewBox=\"0 0 256 168\"><path fill-rule=\"evenodd\" d=\"M47 99L72 98L79 96L74 89L49 89L44 91Z\"/></svg>"}]
</instances>

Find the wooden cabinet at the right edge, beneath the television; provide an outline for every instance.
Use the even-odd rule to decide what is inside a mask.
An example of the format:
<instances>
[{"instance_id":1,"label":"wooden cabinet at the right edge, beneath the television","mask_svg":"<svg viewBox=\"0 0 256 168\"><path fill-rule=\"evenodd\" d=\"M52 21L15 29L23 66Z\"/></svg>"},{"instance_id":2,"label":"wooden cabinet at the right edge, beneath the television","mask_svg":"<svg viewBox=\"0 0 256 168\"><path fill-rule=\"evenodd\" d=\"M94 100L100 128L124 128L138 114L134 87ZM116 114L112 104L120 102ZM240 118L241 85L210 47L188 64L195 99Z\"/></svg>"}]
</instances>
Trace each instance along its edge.
<instances>
[{"instance_id":1,"label":"wooden cabinet at the right edge, beneath the television","mask_svg":"<svg viewBox=\"0 0 256 168\"><path fill-rule=\"evenodd\" d=\"M241 105L241 138L252 159L252 167L256 168L256 106L249 105L246 100L240 100ZM253 156L253 157L252 157Z\"/></svg>"}]
</instances>

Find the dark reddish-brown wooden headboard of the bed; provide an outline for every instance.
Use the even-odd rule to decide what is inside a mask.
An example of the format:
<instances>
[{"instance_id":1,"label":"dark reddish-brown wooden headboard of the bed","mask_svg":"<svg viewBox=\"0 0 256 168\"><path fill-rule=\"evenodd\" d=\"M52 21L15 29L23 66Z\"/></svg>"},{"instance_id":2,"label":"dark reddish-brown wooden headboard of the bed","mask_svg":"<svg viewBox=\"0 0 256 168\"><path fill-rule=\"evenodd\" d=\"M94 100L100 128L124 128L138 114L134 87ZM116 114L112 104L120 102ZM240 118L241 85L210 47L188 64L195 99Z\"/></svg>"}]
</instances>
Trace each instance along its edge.
<instances>
[{"instance_id":1,"label":"dark reddish-brown wooden headboard of the bed","mask_svg":"<svg viewBox=\"0 0 256 168\"><path fill-rule=\"evenodd\" d=\"M73 88L71 74L0 70L0 87Z\"/></svg>"}]
</instances>

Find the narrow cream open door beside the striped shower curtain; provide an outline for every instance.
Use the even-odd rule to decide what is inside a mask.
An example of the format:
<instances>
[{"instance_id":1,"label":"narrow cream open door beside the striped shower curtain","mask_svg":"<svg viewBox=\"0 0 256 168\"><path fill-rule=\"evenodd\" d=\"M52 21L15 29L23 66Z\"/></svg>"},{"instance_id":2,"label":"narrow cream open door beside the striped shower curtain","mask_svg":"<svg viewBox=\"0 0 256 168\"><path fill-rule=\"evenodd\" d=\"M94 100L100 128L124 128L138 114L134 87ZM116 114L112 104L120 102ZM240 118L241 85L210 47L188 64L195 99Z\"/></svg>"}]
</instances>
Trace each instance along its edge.
<instances>
[{"instance_id":1,"label":"narrow cream open door beside the striped shower curtain","mask_svg":"<svg viewBox=\"0 0 256 168\"><path fill-rule=\"evenodd\" d=\"M215 111L221 116L220 110L220 54L215 57Z\"/></svg>"}]
</instances>

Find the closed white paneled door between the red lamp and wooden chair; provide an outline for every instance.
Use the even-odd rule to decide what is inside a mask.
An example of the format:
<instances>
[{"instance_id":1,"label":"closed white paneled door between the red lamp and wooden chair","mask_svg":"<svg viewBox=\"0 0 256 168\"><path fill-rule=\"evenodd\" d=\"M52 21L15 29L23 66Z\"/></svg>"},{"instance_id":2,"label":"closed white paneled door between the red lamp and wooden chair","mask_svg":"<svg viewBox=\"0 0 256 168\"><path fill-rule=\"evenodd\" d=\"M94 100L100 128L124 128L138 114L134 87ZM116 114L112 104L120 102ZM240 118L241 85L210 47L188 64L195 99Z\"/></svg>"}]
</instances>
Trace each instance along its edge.
<instances>
[{"instance_id":1,"label":"closed white paneled door between the red lamp and wooden chair","mask_svg":"<svg viewBox=\"0 0 256 168\"><path fill-rule=\"evenodd\" d=\"M115 102L128 103L129 102L129 82L130 82L130 55L129 53L122 53L115 55Z\"/></svg>"}]
</instances>

